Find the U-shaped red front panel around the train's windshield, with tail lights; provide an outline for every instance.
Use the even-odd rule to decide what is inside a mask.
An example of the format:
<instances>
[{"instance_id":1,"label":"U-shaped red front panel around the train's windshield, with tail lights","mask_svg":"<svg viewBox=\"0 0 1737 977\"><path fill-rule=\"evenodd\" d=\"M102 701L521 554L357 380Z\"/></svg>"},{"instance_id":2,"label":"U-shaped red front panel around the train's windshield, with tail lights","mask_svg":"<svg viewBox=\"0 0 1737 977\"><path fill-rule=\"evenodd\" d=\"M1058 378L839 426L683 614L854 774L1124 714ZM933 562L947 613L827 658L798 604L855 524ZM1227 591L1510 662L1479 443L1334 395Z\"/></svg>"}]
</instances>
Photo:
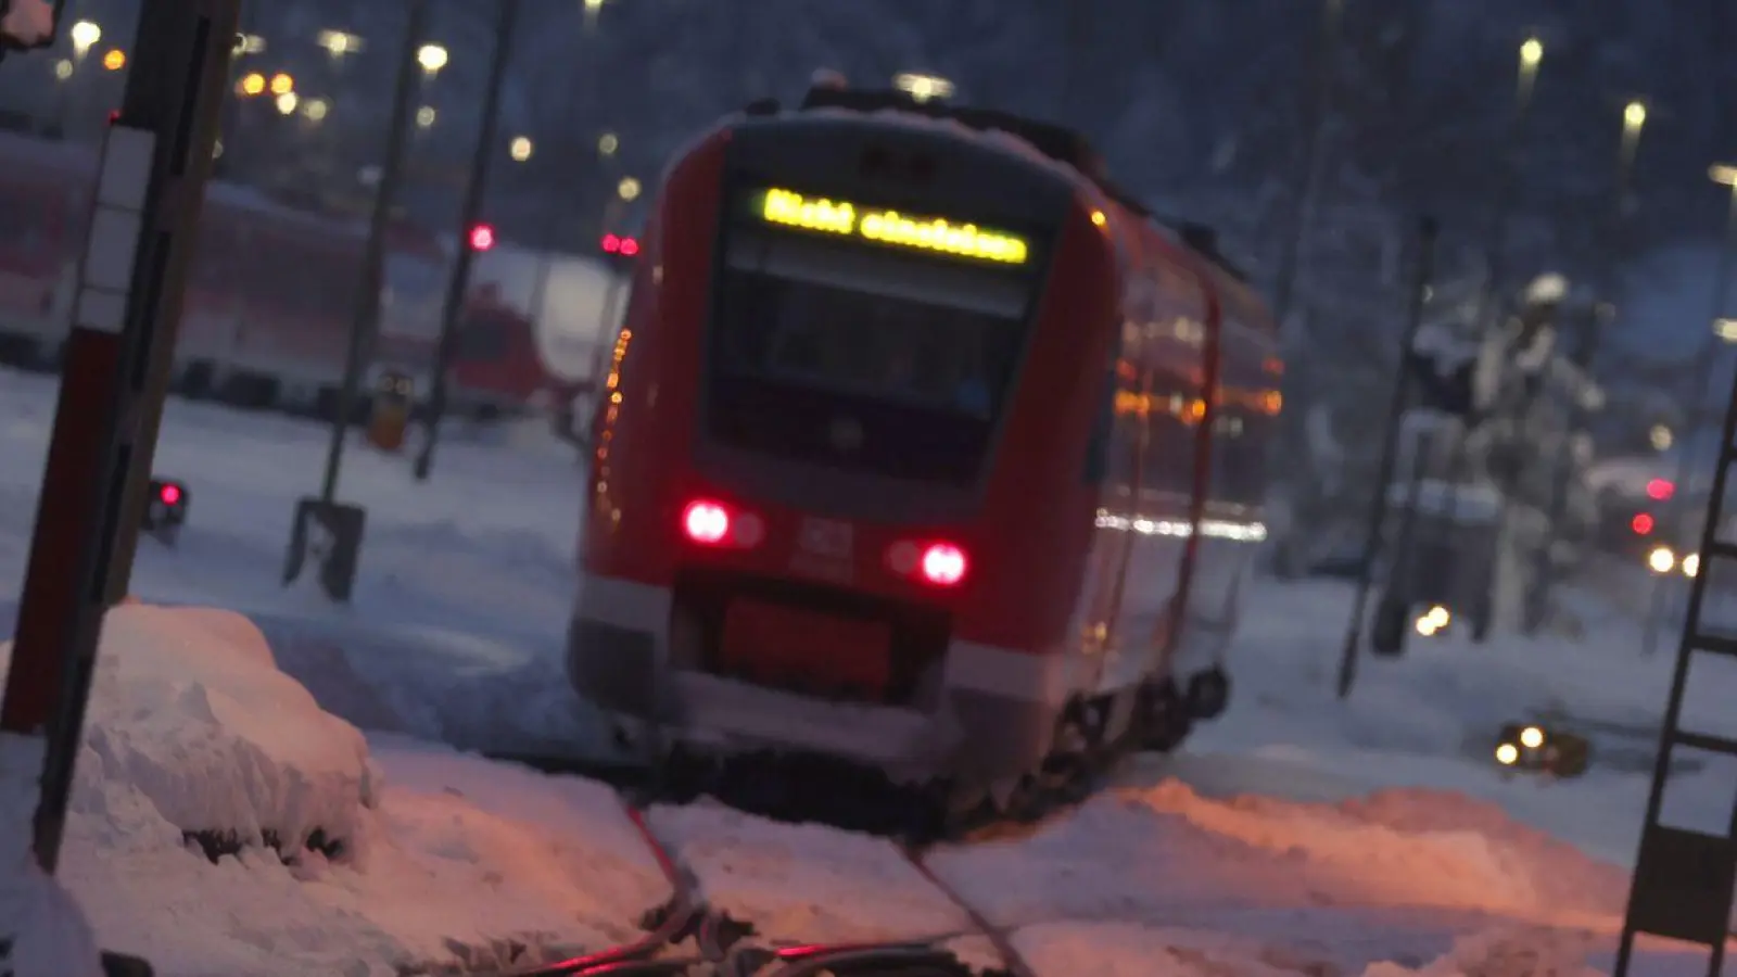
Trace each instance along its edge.
<instances>
[{"instance_id":1,"label":"U-shaped red front panel around the train's windshield, with tail lights","mask_svg":"<svg viewBox=\"0 0 1737 977\"><path fill-rule=\"evenodd\" d=\"M700 475L697 393L703 389L724 146L724 134L712 136L672 169L648 228L598 412L585 570L657 586L674 586L688 570L789 581L945 608L954 640L1060 648L1093 537L1096 485L1084 471L1086 442L1119 304L1110 245L1087 209L1075 207L1054 242L1047 287L974 506L938 522L844 520L827 513L818 488L813 506L780 504ZM780 495L790 497L806 487L783 488ZM752 544L686 539L683 509L695 499L756 523ZM926 575L924 555L935 544L959 553L936 551ZM957 570L961 555L962 579L936 582Z\"/></svg>"}]
</instances>

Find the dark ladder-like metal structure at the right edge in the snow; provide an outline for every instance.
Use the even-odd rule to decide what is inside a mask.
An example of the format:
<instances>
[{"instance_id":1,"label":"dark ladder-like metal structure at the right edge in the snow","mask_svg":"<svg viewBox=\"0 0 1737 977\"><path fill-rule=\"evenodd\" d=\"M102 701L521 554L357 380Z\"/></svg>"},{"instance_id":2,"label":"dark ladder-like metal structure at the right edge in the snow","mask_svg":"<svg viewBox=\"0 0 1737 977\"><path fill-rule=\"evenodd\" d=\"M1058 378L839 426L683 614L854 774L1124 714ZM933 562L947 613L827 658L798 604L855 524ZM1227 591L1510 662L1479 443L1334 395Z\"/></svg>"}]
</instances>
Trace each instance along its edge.
<instances>
[{"instance_id":1,"label":"dark ladder-like metal structure at the right edge in the snow","mask_svg":"<svg viewBox=\"0 0 1737 977\"><path fill-rule=\"evenodd\" d=\"M1688 612L1683 617L1683 640L1676 650L1676 668L1671 676L1671 701L1664 709L1659 732L1659 756L1652 768L1652 793L1647 798L1647 821L1641 826L1640 854L1635 861L1635 878L1629 887L1628 913L1622 918L1622 937L1617 944L1612 977L1628 977L1635 956L1635 937L1640 934L1701 944L1711 951L1707 977L1718 977L1725 965L1725 940L1730 934L1732 895L1737 887L1737 805L1730 812L1723 834L1707 834L1671 827L1659 822L1664 807L1664 788L1671 775L1674 748L1702 749L1737 756L1737 739L1697 734L1681 725L1683 690L1688 683L1688 666L1694 655L1737 657L1737 633L1714 633L1702 626L1701 610L1707 581L1716 567L1737 568L1737 541L1720 539L1725 522L1725 492L1732 466L1737 464L1737 379L1732 382L1725 407L1725 428L1720 436L1718 468L1713 473L1713 494L1707 501L1707 520L1701 530L1701 567L1688 589Z\"/></svg>"}]
</instances>

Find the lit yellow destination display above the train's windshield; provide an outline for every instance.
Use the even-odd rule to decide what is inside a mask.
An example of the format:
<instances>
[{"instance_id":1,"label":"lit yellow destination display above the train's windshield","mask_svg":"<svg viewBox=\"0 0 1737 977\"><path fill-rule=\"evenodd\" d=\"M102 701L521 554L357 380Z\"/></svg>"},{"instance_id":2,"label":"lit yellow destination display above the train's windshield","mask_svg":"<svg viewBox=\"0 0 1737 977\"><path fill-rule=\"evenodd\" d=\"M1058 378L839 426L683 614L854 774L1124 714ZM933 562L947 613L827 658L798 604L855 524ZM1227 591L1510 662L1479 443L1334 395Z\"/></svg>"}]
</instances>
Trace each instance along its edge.
<instances>
[{"instance_id":1,"label":"lit yellow destination display above the train's windshield","mask_svg":"<svg viewBox=\"0 0 1737 977\"><path fill-rule=\"evenodd\" d=\"M759 214L768 224L997 264L1025 264L1030 252L1025 238L976 224L955 224L945 217L912 217L898 210L863 209L848 200L811 198L790 189L768 189L761 200Z\"/></svg>"}]
</instances>

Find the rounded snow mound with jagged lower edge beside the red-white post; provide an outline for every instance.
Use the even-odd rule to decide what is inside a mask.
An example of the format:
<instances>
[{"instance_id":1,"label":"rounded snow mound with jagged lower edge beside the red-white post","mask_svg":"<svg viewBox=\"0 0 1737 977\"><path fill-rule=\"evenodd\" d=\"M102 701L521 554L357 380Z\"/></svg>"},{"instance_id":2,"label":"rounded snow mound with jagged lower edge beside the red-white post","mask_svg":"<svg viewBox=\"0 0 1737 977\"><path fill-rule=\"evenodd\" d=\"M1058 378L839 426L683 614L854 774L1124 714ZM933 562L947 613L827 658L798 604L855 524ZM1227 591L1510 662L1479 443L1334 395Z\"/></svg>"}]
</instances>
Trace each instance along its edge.
<instances>
[{"instance_id":1,"label":"rounded snow mound with jagged lower edge beside the red-white post","mask_svg":"<svg viewBox=\"0 0 1737 977\"><path fill-rule=\"evenodd\" d=\"M375 803L361 732L280 673L245 617L137 603L106 615L73 789L73 812L113 829L104 843L151 845L167 822L214 850L361 857L358 819Z\"/></svg>"}]
</instances>

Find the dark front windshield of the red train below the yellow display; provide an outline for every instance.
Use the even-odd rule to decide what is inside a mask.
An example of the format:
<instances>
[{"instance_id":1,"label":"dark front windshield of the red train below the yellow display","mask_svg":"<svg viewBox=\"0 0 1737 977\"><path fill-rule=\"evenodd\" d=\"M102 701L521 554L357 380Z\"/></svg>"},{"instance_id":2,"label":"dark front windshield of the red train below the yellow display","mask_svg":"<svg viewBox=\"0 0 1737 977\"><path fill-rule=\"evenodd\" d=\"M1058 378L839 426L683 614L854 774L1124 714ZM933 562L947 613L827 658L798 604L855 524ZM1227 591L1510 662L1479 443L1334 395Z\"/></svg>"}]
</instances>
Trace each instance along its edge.
<instances>
[{"instance_id":1,"label":"dark front windshield of the red train below the yellow display","mask_svg":"<svg viewBox=\"0 0 1737 977\"><path fill-rule=\"evenodd\" d=\"M829 468L969 483L1025 353L1040 280L1032 247L1007 238L1020 250L992 259L919 250L851 235L851 219L834 233L752 219L726 233L709 435Z\"/></svg>"}]
</instances>

